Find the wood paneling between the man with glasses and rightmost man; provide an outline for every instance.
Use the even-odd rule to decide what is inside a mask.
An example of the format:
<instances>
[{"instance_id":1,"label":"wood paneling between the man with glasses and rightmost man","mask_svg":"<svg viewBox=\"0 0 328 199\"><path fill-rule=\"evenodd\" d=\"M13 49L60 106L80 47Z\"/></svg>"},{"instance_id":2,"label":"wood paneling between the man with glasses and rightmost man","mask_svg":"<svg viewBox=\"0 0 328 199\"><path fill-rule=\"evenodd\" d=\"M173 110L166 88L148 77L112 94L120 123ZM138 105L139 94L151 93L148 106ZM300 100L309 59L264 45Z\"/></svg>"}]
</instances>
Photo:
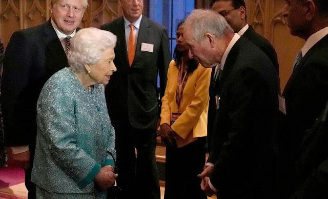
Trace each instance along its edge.
<instances>
[{"instance_id":1,"label":"wood paneling between the man with glasses and rightmost man","mask_svg":"<svg viewBox=\"0 0 328 199\"><path fill-rule=\"evenodd\" d=\"M304 41L292 36L282 16L284 0L246 0L247 21L267 38L277 51L280 65L280 86L284 88L291 73L295 55Z\"/></svg>"}]
</instances>

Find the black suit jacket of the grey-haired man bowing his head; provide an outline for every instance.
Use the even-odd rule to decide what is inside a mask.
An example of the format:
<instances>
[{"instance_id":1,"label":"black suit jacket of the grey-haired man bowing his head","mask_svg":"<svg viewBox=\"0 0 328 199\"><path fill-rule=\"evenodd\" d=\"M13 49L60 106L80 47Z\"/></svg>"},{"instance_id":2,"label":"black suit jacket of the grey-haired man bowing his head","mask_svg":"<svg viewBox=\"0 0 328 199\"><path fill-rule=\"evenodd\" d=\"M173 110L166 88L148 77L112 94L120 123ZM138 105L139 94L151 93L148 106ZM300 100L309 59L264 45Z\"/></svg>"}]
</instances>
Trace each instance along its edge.
<instances>
[{"instance_id":1,"label":"black suit jacket of the grey-haired man bowing his head","mask_svg":"<svg viewBox=\"0 0 328 199\"><path fill-rule=\"evenodd\" d=\"M258 47L240 37L218 83L220 97L209 162L218 198L271 198L278 77Z\"/></svg>"}]
</instances>

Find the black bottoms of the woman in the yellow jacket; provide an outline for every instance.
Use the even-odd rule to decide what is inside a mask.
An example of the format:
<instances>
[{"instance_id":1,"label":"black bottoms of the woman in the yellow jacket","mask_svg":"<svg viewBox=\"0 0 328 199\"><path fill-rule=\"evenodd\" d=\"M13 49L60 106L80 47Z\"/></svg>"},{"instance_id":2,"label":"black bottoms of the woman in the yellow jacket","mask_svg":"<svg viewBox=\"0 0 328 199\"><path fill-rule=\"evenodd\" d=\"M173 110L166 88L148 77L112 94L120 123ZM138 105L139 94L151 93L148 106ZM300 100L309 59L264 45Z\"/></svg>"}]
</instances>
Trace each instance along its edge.
<instances>
[{"instance_id":1,"label":"black bottoms of the woman in the yellow jacket","mask_svg":"<svg viewBox=\"0 0 328 199\"><path fill-rule=\"evenodd\" d=\"M200 189L201 179L197 177L203 171L206 155L206 138L177 148L167 146L165 164L165 199L206 199Z\"/></svg>"}]
</instances>

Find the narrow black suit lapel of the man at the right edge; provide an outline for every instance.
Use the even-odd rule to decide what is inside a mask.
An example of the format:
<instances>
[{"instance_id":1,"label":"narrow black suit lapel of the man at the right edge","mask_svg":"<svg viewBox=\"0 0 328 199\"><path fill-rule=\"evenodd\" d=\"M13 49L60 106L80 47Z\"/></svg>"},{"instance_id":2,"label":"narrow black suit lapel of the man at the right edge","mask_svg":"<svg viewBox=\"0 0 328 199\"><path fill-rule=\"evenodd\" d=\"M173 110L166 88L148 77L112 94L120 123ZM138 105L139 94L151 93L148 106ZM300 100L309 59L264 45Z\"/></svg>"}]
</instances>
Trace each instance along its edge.
<instances>
[{"instance_id":1,"label":"narrow black suit lapel of the man at the right edge","mask_svg":"<svg viewBox=\"0 0 328 199\"><path fill-rule=\"evenodd\" d=\"M328 35L324 36L317 44L315 44L301 59L301 62L298 64L296 70L293 71L291 77L288 79L288 82L283 90L282 95L286 95L288 93L289 89L294 83L295 78L297 77L299 71L302 69L302 67L305 65L308 58L318 49L321 47L321 45L326 44L328 41Z\"/></svg>"}]
</instances>

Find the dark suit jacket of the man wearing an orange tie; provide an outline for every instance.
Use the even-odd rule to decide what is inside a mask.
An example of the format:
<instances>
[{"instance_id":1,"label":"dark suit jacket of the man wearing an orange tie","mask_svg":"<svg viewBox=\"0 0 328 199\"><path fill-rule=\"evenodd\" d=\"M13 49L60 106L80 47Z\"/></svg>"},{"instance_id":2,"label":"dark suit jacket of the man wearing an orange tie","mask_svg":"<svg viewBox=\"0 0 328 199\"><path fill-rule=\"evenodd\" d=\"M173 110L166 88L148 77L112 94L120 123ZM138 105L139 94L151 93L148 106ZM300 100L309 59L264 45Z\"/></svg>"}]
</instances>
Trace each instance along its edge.
<instances>
[{"instance_id":1,"label":"dark suit jacket of the man wearing an orange tie","mask_svg":"<svg viewBox=\"0 0 328 199\"><path fill-rule=\"evenodd\" d=\"M170 49L167 29L142 16L136 52L129 66L124 18L101 26L117 36L114 64L117 71L105 89L108 112L113 126L127 123L138 129L154 129L159 116L157 74L160 96L164 95ZM153 52L141 51L141 43L154 45ZM157 73L158 72L158 73Z\"/></svg>"}]
</instances>

